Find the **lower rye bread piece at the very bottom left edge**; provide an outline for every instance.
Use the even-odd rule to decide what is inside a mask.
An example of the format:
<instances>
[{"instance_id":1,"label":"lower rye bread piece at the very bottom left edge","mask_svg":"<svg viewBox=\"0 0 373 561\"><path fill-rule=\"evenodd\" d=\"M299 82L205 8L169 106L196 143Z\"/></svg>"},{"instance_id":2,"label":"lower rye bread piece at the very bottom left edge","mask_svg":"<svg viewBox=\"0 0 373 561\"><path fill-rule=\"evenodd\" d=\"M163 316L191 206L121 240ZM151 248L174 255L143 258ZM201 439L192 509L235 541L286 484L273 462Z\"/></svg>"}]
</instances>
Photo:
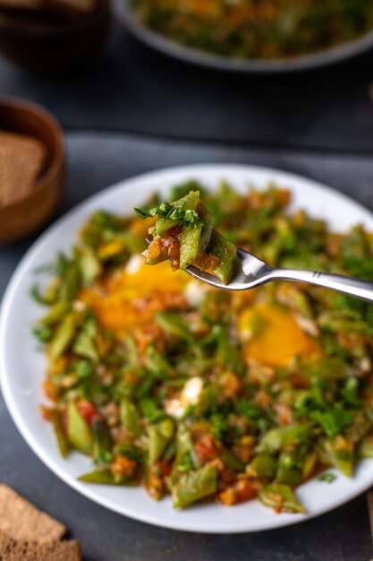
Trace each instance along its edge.
<instances>
[{"instance_id":1,"label":"lower rye bread piece at the very bottom left edge","mask_svg":"<svg viewBox=\"0 0 373 561\"><path fill-rule=\"evenodd\" d=\"M0 561L81 561L81 548L75 539L38 544L0 531Z\"/></svg>"}]
</instances>

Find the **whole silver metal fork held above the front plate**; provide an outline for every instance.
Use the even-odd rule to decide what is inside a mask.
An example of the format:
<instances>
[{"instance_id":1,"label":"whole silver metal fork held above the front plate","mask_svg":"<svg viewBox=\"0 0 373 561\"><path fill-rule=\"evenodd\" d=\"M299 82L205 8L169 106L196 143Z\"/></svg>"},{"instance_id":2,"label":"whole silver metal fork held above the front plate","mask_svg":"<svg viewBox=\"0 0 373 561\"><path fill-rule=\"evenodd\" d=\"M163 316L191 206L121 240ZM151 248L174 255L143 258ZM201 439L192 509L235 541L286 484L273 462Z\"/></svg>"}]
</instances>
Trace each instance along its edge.
<instances>
[{"instance_id":1,"label":"whole silver metal fork held above the front plate","mask_svg":"<svg viewBox=\"0 0 373 561\"><path fill-rule=\"evenodd\" d=\"M237 259L233 277L229 284L223 282L208 272L200 271L190 266L185 269L192 277L202 282L225 290L248 290L266 284L272 280L294 280L307 282L326 289L337 290L373 302L373 282L346 277L326 272L301 271L297 269L274 269L255 255L251 255L240 247L237 249Z\"/></svg>"}]
</instances>

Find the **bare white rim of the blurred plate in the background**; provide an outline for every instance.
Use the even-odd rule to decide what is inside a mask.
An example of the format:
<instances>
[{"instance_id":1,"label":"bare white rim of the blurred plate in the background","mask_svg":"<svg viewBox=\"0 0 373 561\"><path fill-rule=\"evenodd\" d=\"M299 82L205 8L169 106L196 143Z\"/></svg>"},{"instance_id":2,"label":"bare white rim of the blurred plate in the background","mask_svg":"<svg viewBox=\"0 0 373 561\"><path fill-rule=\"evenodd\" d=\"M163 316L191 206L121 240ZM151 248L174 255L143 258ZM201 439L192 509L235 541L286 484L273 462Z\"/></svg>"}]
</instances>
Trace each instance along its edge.
<instances>
[{"instance_id":1,"label":"bare white rim of the blurred plate in the background","mask_svg":"<svg viewBox=\"0 0 373 561\"><path fill-rule=\"evenodd\" d=\"M236 73L289 73L335 65L361 56L373 47L373 30L358 39L335 47L306 55L288 58L235 58L214 55L197 48L186 47L173 39L167 39L157 31L150 30L133 13L130 0L114 0L117 18L131 33L148 47L193 65L208 66L216 70Z\"/></svg>"}]
</instances>

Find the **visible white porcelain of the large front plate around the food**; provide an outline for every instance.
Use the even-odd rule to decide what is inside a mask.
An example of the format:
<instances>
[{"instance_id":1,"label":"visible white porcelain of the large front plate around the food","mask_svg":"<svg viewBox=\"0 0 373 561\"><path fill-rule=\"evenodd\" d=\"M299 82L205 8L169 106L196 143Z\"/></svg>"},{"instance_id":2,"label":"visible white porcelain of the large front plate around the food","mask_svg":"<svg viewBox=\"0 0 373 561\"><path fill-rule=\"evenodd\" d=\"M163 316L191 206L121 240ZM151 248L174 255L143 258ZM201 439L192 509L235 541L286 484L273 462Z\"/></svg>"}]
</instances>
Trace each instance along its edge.
<instances>
[{"instance_id":1,"label":"visible white porcelain of the large front plate around the food","mask_svg":"<svg viewBox=\"0 0 373 561\"><path fill-rule=\"evenodd\" d=\"M166 194L170 186L194 178L214 189L227 179L240 192L248 184L259 188L276 182L292 190L293 207L326 219L332 229L345 230L361 222L373 230L372 214L343 194L292 174L267 168L243 166L190 166L171 168L135 177L90 197L47 229L23 257L4 296L0 320L0 370L4 399L21 435L38 457L79 493L119 514L137 520L184 531L231 533L259 531L286 526L325 513L351 500L373 484L373 460L360 462L352 479L337 474L333 484L309 481L297 491L307 514L275 514L269 508L250 501L227 508L223 505L196 505L182 512L172 508L169 498L157 503L142 488L118 488L83 484L75 478L89 470L89 460L73 453L68 460L60 457L52 428L41 419L38 405L45 401L41 382L45 367L30 335L30 324L41 313L30 300L30 285L35 269L54 259L59 250L67 251L76 231L96 209L127 212L139 206L155 190Z\"/></svg>"}]
</instances>

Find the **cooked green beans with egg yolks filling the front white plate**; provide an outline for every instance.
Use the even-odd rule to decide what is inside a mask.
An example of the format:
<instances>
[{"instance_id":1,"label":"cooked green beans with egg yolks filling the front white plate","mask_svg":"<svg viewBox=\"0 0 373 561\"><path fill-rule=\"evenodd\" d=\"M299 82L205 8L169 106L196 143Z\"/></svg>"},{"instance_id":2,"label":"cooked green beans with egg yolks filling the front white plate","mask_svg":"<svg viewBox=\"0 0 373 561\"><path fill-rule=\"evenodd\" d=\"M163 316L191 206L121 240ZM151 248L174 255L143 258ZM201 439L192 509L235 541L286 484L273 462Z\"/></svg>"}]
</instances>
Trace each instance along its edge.
<instances>
[{"instance_id":1,"label":"cooked green beans with egg yolks filling the front white plate","mask_svg":"<svg viewBox=\"0 0 373 561\"><path fill-rule=\"evenodd\" d=\"M301 513L293 488L330 467L353 477L373 457L373 306L308 285L212 289L168 263L153 274L139 248L148 228L162 239L187 228L186 262L211 252L225 280L235 245L278 266L373 279L373 236L290 213L275 186L208 194L188 182L174 197L153 197L145 220L95 212L34 290L47 306L32 325L47 355L44 416L64 457L91 458L81 481L142 483L177 508L259 496Z\"/></svg>"}]
</instances>

